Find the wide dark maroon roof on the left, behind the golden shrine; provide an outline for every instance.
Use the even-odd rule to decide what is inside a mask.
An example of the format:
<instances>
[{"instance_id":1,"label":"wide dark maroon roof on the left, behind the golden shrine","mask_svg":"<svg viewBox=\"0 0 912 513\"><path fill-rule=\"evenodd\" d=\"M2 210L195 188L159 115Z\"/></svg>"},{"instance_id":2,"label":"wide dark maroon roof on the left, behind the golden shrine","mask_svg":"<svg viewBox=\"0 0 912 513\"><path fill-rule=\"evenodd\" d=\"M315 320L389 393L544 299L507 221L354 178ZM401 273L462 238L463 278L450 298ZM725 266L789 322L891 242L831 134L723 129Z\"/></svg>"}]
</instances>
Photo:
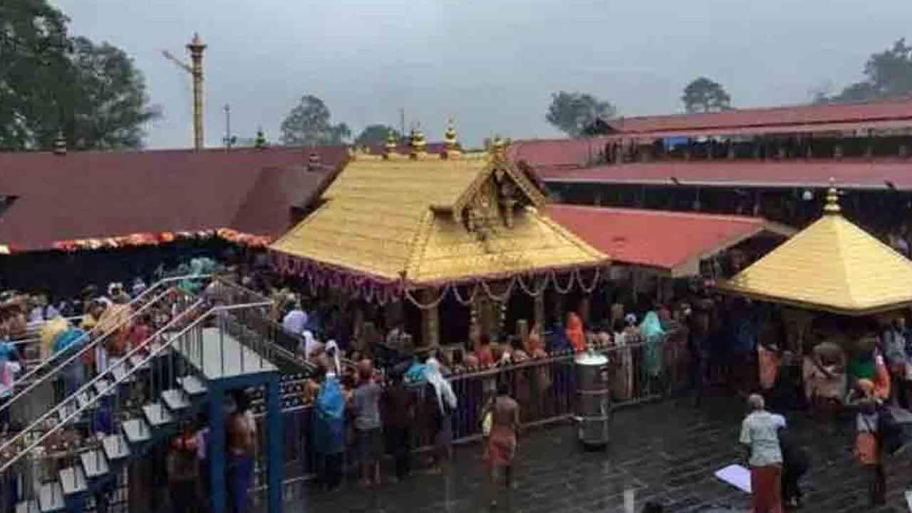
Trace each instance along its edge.
<instances>
[{"instance_id":1,"label":"wide dark maroon roof on the left, behind the golden shrine","mask_svg":"<svg viewBox=\"0 0 912 513\"><path fill-rule=\"evenodd\" d=\"M306 171L310 152L321 171ZM344 146L0 153L0 194L16 196L0 214L0 245L217 228L278 236L290 207L346 155Z\"/></svg>"}]
</instances>

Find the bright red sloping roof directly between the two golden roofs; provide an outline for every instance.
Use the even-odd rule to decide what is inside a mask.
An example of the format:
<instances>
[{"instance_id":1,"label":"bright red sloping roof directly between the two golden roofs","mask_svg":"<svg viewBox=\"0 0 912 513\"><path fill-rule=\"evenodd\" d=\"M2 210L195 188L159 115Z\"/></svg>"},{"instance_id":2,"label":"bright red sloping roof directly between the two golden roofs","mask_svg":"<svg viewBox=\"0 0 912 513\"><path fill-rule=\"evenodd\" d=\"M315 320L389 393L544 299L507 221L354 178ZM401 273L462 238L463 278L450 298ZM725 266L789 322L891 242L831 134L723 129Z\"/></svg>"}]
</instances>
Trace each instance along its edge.
<instances>
[{"instance_id":1,"label":"bright red sloping roof directly between the two golden roofs","mask_svg":"<svg viewBox=\"0 0 912 513\"><path fill-rule=\"evenodd\" d=\"M699 273L700 260L763 231L792 231L760 217L549 204L547 215L612 262L655 267L671 276Z\"/></svg>"}]
</instances>

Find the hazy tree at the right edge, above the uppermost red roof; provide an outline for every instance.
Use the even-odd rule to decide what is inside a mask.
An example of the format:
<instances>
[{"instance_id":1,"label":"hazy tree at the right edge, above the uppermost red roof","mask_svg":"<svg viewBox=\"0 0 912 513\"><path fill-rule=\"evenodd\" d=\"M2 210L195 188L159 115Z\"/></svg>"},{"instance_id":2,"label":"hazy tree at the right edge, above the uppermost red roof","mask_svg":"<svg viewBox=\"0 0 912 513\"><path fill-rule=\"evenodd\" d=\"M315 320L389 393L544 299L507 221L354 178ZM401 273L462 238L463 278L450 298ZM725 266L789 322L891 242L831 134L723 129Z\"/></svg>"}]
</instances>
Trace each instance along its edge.
<instances>
[{"instance_id":1,"label":"hazy tree at the right edge, above the uppermost red roof","mask_svg":"<svg viewBox=\"0 0 912 513\"><path fill-rule=\"evenodd\" d=\"M850 84L827 101L864 101L912 93L912 47L899 39L893 47L873 54L865 63L865 79Z\"/></svg>"}]
</instances>

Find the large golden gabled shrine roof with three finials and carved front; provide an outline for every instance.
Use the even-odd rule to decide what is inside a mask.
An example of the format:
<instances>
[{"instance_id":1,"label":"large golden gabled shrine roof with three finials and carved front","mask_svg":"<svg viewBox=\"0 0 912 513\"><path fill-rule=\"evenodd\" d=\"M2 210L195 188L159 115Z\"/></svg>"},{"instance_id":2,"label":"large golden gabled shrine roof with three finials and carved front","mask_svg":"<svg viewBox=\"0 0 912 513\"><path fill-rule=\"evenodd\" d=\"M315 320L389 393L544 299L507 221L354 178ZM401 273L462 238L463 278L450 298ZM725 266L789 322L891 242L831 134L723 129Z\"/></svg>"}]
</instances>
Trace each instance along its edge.
<instances>
[{"instance_id":1,"label":"large golden gabled shrine roof with three finials and carved front","mask_svg":"<svg viewBox=\"0 0 912 513\"><path fill-rule=\"evenodd\" d=\"M544 215L504 153L353 154L323 204L270 248L412 286L606 263Z\"/></svg>"}]
</instances>

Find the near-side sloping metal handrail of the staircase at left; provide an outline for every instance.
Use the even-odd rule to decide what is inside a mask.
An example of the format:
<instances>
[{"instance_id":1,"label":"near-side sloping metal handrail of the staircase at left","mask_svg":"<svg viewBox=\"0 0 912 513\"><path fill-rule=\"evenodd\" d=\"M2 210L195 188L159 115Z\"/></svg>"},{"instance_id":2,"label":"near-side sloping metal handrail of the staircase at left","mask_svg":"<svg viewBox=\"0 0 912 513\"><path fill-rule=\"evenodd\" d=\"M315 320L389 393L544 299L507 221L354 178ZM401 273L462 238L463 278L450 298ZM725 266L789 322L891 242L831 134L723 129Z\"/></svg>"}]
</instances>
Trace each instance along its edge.
<instances>
[{"instance_id":1,"label":"near-side sloping metal handrail of the staircase at left","mask_svg":"<svg viewBox=\"0 0 912 513\"><path fill-rule=\"evenodd\" d=\"M167 332L168 330L170 330L175 323L177 323L180 319L185 317L189 312L192 312L194 309L196 309L197 307L202 305L202 303L203 303L202 299L197 299L190 307L188 307L187 309L183 309L178 315L176 315L170 321L168 321L168 323L165 324L164 326L162 326L161 329L159 329L155 333L151 334L149 336L149 338L146 340L154 340L156 338L161 337L161 335L164 334L165 332ZM208 315L210 313L212 313L212 310L213 309L208 310L202 316L195 319L192 323L190 323L185 328L183 328L181 331L179 331L177 335L172 336L171 339L167 340L166 343L161 344L157 349L153 349L152 351L149 351L149 355L144 360L142 360L139 364L134 365L133 368L130 369L130 372L124 372L124 374L122 376L120 376L119 379L114 378L114 383L111 384L108 388L106 388L104 390L104 392L98 393L95 397L92 398L91 401L88 401L86 404L83 404L82 406L78 406L77 410L74 413L69 414L66 418L62 419L61 422L57 423L53 428L48 429L45 434L42 434L31 445L28 445L25 449L18 451L15 456L13 456L12 458L10 458L9 461L4 462L4 464L2 466L0 466L0 473L4 472L7 468L9 468L14 463L16 463L16 461L18 461L22 457L22 455L26 455L26 454L30 453L38 445L41 445L42 442L47 440L48 436L50 436L51 434L57 433L57 431L59 429L61 429L62 426L66 425L67 422L72 420L77 414L81 414L83 411L86 410L86 408L88 408L89 405L96 403L98 401L98 398L104 396L106 393L108 393L113 387L118 385L120 382L123 382L124 380L126 380L127 378L132 376L134 372L137 372L137 370L140 369L145 363L149 362L151 358L157 356L164 349L171 347L171 344L174 342L174 340L178 340L181 337L181 335L183 335L187 330L189 330L193 326L197 325L203 319L206 319L208 317ZM67 405L67 403L71 403L74 398L78 398L82 393L85 393L90 388L95 386L95 384L97 382L100 382L103 379L105 379L108 376L108 374L111 374L113 376L112 371L115 367L117 367L118 365L126 365L130 361L130 358L137 352L142 351L142 349L145 346L146 346L146 344L140 344L137 347L130 350L126 355L123 356L123 358L121 358L119 361L116 361L107 370L105 370L105 372L98 373L98 376L92 378L90 381L83 384L81 387L79 387L79 389L75 393L72 393L69 397L67 397L63 401L57 403L56 406L54 406L53 408L48 410L45 414L38 417L36 421L34 421L32 424L29 424L25 429L23 429L18 434L16 434L16 436L7 440L3 445L0 445L0 455L5 454L6 450L11 445L15 445L19 441L20 438L24 438L26 436L26 434L29 434L37 426L44 424L45 421L47 421L47 419L51 415L56 414L60 409L64 408ZM151 345L150 345L150 347L151 347ZM77 404L78 404L78 401L77 401Z\"/></svg>"}]
</instances>

